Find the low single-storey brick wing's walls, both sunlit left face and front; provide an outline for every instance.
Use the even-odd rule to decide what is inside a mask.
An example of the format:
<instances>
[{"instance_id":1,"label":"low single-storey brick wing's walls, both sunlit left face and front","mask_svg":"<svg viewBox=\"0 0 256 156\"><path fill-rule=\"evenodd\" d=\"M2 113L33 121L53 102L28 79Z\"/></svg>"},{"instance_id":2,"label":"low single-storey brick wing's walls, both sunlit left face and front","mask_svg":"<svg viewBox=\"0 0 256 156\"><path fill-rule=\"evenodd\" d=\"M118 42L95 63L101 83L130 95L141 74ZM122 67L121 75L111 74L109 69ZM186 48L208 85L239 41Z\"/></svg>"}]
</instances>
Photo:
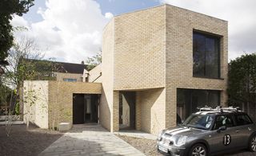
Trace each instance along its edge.
<instances>
[{"instance_id":1,"label":"low single-storey brick wing's walls, both sunlit left face and front","mask_svg":"<svg viewBox=\"0 0 256 156\"><path fill-rule=\"evenodd\" d=\"M23 94L24 113L30 114L30 119L24 115L24 120L52 128L58 123L73 123L73 94L100 95L102 84L32 80L24 82Z\"/></svg>"}]
</instances>

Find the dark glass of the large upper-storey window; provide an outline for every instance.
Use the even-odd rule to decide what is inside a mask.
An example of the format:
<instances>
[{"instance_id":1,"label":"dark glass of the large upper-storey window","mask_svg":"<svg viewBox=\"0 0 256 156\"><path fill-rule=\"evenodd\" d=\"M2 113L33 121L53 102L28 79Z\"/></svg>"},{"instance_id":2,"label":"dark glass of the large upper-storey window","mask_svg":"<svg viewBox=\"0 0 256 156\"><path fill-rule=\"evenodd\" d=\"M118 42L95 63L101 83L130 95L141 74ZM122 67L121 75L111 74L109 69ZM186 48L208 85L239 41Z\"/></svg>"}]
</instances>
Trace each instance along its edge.
<instances>
[{"instance_id":1,"label":"dark glass of the large upper-storey window","mask_svg":"<svg viewBox=\"0 0 256 156\"><path fill-rule=\"evenodd\" d=\"M193 33L193 76L220 77L220 37Z\"/></svg>"}]
</instances>

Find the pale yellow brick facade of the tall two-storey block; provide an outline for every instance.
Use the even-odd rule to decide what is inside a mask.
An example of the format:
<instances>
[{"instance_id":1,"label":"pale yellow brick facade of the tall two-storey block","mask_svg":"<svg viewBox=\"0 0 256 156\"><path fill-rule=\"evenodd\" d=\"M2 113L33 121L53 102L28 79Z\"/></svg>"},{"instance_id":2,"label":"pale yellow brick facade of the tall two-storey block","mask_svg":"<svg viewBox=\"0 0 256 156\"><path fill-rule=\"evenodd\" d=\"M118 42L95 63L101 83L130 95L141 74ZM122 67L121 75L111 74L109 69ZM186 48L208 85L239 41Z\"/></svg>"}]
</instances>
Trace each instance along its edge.
<instances>
[{"instance_id":1,"label":"pale yellow brick facade of the tall two-storey block","mask_svg":"<svg viewBox=\"0 0 256 156\"><path fill-rule=\"evenodd\" d=\"M222 36L221 79L193 77L195 30ZM218 90L226 104L227 21L170 5L122 14L106 25L102 53L110 131L118 131L121 91L136 92L136 129L154 134L176 125L177 88Z\"/></svg>"}]
</instances>

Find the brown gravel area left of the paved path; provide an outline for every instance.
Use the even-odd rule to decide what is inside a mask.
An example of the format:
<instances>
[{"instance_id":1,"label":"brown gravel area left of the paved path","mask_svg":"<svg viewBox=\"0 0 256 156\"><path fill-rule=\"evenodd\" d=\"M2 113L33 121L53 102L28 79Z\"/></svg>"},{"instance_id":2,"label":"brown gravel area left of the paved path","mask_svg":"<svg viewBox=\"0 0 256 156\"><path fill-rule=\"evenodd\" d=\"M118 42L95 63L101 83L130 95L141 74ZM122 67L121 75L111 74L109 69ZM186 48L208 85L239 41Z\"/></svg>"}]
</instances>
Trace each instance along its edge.
<instances>
[{"instance_id":1,"label":"brown gravel area left of the paved path","mask_svg":"<svg viewBox=\"0 0 256 156\"><path fill-rule=\"evenodd\" d=\"M0 125L1 156L34 156L50 146L63 134L58 131L43 130L33 125L12 125L10 136L6 136L5 125Z\"/></svg>"}]
</instances>

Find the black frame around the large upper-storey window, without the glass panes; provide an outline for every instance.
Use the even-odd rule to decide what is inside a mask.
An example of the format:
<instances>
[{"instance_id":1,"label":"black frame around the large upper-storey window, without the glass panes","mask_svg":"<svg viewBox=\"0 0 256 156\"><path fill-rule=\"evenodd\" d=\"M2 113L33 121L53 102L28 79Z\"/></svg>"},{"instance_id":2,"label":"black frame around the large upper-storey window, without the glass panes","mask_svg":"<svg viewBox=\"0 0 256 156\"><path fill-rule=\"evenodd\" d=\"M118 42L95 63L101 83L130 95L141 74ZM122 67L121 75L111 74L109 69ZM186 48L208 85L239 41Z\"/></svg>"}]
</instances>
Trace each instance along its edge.
<instances>
[{"instance_id":1,"label":"black frame around the large upper-storey window, without the glass panes","mask_svg":"<svg viewBox=\"0 0 256 156\"><path fill-rule=\"evenodd\" d=\"M212 76L206 76L206 44L205 44L205 50L204 50L204 69L203 69L203 76L199 76L194 74L194 34L202 35L206 38L214 39L215 41L218 41L217 43L217 50L218 50L218 76L212 77ZM214 33L207 33L203 32L197 29L193 29L193 36L192 36L192 46L193 46L193 77L197 78L208 78L208 79L222 79L221 78L221 38L222 36L214 34Z\"/></svg>"}]
</instances>

